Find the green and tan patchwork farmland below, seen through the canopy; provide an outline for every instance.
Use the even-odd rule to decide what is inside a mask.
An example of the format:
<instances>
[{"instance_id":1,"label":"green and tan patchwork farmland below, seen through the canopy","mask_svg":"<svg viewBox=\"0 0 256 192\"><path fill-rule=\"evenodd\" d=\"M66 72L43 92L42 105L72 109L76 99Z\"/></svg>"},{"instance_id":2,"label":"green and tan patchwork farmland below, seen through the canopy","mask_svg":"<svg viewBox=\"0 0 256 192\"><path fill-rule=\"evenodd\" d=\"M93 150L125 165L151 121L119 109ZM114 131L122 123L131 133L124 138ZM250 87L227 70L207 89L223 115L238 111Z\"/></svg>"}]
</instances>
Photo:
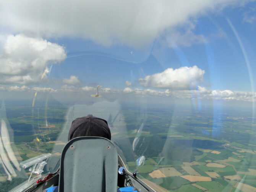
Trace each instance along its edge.
<instances>
[{"instance_id":1,"label":"green and tan patchwork farmland below, seen through the canopy","mask_svg":"<svg viewBox=\"0 0 256 192\"><path fill-rule=\"evenodd\" d=\"M50 152L47 170L53 171L76 115L72 107L59 103L48 105L47 110L39 105L35 111L29 105L7 103L6 116L13 132L17 160L21 162ZM112 141L122 150L127 169L137 172L139 178L159 191L240 189L246 192L256 187L256 143L250 139L256 132L246 112L225 111L214 120L212 111L207 109L173 110L154 106L147 108L147 115L142 119L138 118L141 109L136 106L123 105L117 115L107 108L94 106L89 110L110 122ZM132 146L143 122L139 142ZM136 160L142 155L146 160L137 166ZM21 173L10 184L18 184L27 177L25 172ZM0 185L5 187L2 189L8 189L4 171L0 178Z\"/></svg>"}]
</instances>

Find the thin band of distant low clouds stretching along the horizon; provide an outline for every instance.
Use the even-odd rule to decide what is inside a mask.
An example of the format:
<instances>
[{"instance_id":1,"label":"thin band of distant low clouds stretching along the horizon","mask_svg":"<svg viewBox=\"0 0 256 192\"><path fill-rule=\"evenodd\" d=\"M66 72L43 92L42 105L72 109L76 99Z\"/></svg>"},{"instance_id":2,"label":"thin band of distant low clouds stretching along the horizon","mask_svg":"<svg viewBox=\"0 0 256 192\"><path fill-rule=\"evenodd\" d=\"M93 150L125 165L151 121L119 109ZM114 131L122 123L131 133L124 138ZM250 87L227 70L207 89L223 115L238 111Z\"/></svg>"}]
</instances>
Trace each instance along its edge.
<instances>
[{"instance_id":1,"label":"thin band of distant low clouds stretching along the horizon","mask_svg":"<svg viewBox=\"0 0 256 192\"><path fill-rule=\"evenodd\" d=\"M85 86L85 87L75 87L64 85L59 89L52 89L50 87L33 87L29 88L27 86L0 86L0 91L5 92L48 92L48 93L59 93L59 94L68 94L68 93L80 93L83 94L83 97L89 97L91 94L96 93L95 87ZM198 100L235 100L235 101L247 101L253 102L256 100L256 93L253 92L244 92L244 91L232 91L232 90L210 90L205 87L198 86L194 90L170 90L166 89L164 91L158 91L154 89L131 89L126 87L123 90L120 89L110 89L110 88L99 88L99 94L107 98L120 98L123 97L153 97L153 98L178 98L178 99L198 99ZM70 98L72 100L72 98Z\"/></svg>"}]
</instances>

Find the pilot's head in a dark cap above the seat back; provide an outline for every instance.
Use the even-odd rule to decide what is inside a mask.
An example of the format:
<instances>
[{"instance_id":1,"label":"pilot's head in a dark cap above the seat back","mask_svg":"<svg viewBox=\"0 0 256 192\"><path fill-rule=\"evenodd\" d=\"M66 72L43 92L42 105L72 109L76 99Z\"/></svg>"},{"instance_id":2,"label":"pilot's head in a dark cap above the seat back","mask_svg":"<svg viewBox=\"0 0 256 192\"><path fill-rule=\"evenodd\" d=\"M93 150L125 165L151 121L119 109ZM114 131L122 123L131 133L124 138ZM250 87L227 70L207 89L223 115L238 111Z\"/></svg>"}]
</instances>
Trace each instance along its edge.
<instances>
[{"instance_id":1,"label":"pilot's head in a dark cap above the seat back","mask_svg":"<svg viewBox=\"0 0 256 192\"><path fill-rule=\"evenodd\" d=\"M92 115L75 119L68 132L68 141L83 136L105 137L111 140L107 121Z\"/></svg>"}]
</instances>

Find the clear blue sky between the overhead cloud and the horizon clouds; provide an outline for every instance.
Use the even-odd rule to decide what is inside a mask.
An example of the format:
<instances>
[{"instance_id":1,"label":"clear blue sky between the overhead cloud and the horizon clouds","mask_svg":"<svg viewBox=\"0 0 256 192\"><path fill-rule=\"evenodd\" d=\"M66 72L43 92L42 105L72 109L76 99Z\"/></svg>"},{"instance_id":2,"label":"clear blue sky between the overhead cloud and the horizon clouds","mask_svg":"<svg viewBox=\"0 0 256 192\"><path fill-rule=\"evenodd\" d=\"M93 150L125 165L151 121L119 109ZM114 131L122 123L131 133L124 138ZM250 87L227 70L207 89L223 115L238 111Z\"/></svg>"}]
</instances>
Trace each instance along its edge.
<instances>
[{"instance_id":1,"label":"clear blue sky between the overhead cloud and the horizon clouds","mask_svg":"<svg viewBox=\"0 0 256 192\"><path fill-rule=\"evenodd\" d=\"M254 65L256 58L253 54L256 48L256 23L243 21L243 14L254 6L256 6L255 3L248 3L243 8L225 8L222 13L211 13L199 17L196 19L193 33L204 35L208 42L190 46L167 47L159 43L165 38L161 39L160 37L160 40L156 39L144 52L144 50L118 45L104 47L84 39L52 39L51 42L65 46L67 55L85 55L68 58L64 61L64 65L53 68L53 71L61 71L60 74L63 78L77 75L85 83L99 82L104 87L116 86L123 89L125 81L134 82L138 78L142 78L142 74L139 74L141 69L146 75L160 73L167 68L176 69L181 66L196 65L206 71L203 86L220 90L251 91L246 61L227 19L231 21L239 34L248 55L252 73L256 74L256 65ZM131 51L133 55L137 55L131 55ZM86 56L86 54L94 54L94 52L96 55ZM78 67L72 67L71 63L74 62ZM84 69L84 71L80 69ZM70 73L71 71L72 73ZM105 71L107 74L104 74Z\"/></svg>"}]
</instances>

